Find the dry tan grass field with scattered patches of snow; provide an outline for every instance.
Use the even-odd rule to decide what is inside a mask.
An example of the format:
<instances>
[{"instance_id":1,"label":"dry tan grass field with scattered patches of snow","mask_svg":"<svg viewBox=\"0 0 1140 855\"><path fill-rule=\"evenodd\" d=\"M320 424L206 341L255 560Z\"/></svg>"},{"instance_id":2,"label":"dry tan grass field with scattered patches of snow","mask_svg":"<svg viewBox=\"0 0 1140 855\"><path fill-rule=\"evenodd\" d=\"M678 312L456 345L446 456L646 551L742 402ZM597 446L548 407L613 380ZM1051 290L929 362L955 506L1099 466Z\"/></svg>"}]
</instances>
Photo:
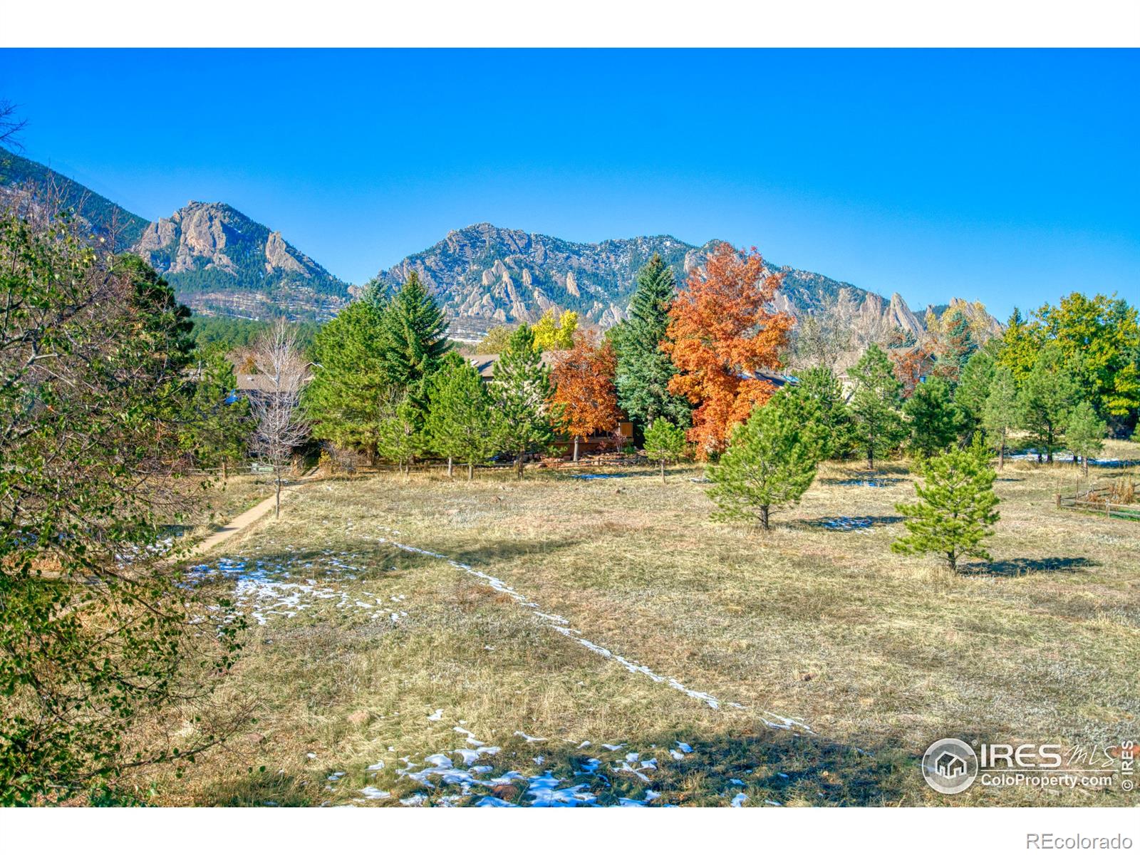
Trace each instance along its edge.
<instances>
[{"instance_id":1,"label":"dry tan grass field with scattered patches of snow","mask_svg":"<svg viewBox=\"0 0 1140 855\"><path fill-rule=\"evenodd\" d=\"M1007 464L994 563L955 578L890 552L901 464L823 466L767 534L709 521L700 475L307 484L202 577L251 616L233 689L256 720L140 785L176 805L1135 804L939 796L919 771L943 736L1140 736L1140 526L1058 510L1077 467Z\"/></svg>"}]
</instances>

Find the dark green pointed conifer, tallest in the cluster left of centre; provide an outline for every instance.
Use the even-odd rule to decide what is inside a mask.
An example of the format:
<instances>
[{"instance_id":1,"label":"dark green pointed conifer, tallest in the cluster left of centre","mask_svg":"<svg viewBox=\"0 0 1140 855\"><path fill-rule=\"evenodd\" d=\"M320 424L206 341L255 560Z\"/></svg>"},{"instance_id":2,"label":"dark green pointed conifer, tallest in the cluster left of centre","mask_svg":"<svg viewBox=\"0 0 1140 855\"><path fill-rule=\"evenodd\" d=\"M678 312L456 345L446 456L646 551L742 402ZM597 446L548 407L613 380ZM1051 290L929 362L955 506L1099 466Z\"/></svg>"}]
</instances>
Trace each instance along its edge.
<instances>
[{"instance_id":1,"label":"dark green pointed conifer, tallest in the cluster left of centre","mask_svg":"<svg viewBox=\"0 0 1140 855\"><path fill-rule=\"evenodd\" d=\"M425 381L450 349L447 319L413 270L383 304L383 365L388 382L407 392L417 413L425 408ZM421 415L422 417L422 415Z\"/></svg>"}]
</instances>

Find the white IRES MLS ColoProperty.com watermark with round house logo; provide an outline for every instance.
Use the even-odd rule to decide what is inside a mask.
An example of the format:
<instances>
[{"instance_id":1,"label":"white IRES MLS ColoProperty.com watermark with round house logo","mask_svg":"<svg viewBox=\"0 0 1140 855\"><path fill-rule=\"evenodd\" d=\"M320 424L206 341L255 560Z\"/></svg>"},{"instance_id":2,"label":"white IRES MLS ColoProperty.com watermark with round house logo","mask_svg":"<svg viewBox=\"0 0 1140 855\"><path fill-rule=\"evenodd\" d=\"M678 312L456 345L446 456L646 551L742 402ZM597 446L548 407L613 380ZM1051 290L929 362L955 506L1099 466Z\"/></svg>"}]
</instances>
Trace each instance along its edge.
<instances>
[{"instance_id":1,"label":"white IRES MLS ColoProperty.com watermark with round house logo","mask_svg":"<svg viewBox=\"0 0 1140 855\"><path fill-rule=\"evenodd\" d=\"M1108 789L1135 788L1137 747L1132 740L1102 750L1025 742L939 739L922 755L922 777L946 796L982 787Z\"/></svg>"}]
</instances>

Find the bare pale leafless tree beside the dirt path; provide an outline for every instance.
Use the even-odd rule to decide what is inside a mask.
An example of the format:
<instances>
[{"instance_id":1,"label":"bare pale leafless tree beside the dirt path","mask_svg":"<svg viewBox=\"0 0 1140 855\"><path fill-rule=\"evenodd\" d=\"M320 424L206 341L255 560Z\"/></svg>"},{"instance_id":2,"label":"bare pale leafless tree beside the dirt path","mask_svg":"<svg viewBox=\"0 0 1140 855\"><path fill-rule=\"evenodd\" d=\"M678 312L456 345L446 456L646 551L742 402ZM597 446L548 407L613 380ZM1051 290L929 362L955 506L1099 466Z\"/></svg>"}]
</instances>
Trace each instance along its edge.
<instances>
[{"instance_id":1,"label":"bare pale leafless tree beside the dirt path","mask_svg":"<svg viewBox=\"0 0 1140 855\"><path fill-rule=\"evenodd\" d=\"M250 408L258 422L253 450L272 466L277 481L274 516L279 518L285 471L293 449L309 435L309 422L300 409L308 363L298 347L296 327L278 318L255 342L253 365L258 372L258 388L250 392Z\"/></svg>"}]
</instances>

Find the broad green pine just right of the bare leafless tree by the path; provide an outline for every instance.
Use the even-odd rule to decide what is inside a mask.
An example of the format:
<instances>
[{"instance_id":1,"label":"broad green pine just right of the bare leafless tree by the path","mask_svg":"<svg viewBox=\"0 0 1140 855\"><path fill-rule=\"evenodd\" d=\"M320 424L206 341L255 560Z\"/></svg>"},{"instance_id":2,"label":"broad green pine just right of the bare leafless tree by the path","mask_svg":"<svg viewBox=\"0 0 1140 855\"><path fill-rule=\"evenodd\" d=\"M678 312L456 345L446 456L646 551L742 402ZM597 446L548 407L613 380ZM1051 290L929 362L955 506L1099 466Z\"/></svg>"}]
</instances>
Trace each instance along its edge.
<instances>
[{"instance_id":1,"label":"broad green pine just right of the bare leafless tree by the path","mask_svg":"<svg viewBox=\"0 0 1140 855\"><path fill-rule=\"evenodd\" d=\"M392 392L385 342L383 316L370 300L349 303L317 333L303 396L316 439L376 454L381 404Z\"/></svg>"}]
</instances>

